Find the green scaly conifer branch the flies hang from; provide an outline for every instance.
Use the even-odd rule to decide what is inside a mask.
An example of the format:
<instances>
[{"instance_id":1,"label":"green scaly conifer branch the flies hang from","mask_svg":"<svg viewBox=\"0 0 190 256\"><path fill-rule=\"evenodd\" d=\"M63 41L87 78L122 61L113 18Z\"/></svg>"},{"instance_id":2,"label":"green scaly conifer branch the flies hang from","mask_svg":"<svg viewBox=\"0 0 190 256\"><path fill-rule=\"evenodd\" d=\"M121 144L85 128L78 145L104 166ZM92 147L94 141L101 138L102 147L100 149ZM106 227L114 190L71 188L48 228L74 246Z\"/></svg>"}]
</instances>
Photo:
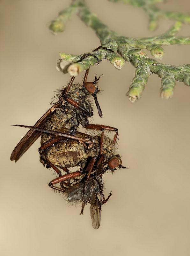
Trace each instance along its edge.
<instances>
[{"instance_id":1,"label":"green scaly conifer branch the flies hang from","mask_svg":"<svg viewBox=\"0 0 190 256\"><path fill-rule=\"evenodd\" d=\"M111 0L118 2L119 0ZM126 3L126 0L120 0ZM72 55L61 52L61 59L57 64L57 69L63 73L69 72L71 76L77 76L83 70L104 60L110 60L113 66L121 69L126 61L130 61L136 68L135 77L132 80L127 96L134 103L140 99L145 84L148 81L150 74L157 74L162 78L162 86L160 94L163 99L172 97L175 81L183 82L185 85L190 85L190 65L182 65L179 67L172 65L164 65L154 59L148 58L147 53L143 49L147 49L158 60L161 60L164 55L162 46L166 45L184 45L190 44L190 37L175 36L181 28L181 22L190 23L190 16L180 13L172 13L157 9L154 4L157 0L144 1L134 0L127 1L129 4L142 7L149 15L149 28L157 27L159 17L168 17L177 20L172 28L161 36L149 38L129 38L120 36L110 30L101 20L99 20L87 7L84 0L74 0L69 8L60 12L59 16L50 22L49 28L53 32L62 32L66 21L71 17L71 14L77 13L82 21L87 26L90 26L99 37L101 48L97 48L92 52L87 52L82 55ZM159 1L160 2L160 1ZM60 28L60 29L59 29ZM118 55L117 52L120 54ZM174 53L175 54L175 53Z\"/></svg>"}]
</instances>

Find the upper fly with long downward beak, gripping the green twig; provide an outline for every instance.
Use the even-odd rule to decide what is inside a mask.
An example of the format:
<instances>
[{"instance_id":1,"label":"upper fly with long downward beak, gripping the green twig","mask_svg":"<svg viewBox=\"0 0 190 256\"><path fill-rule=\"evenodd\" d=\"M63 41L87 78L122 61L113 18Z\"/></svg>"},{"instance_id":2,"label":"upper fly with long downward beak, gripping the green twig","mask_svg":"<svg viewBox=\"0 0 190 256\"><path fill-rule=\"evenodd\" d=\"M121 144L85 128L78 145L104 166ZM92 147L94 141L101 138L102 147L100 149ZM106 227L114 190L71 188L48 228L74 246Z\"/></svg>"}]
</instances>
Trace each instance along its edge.
<instances>
[{"instance_id":1,"label":"upper fly with long downward beak, gripping the green twig","mask_svg":"<svg viewBox=\"0 0 190 256\"><path fill-rule=\"evenodd\" d=\"M78 125L82 124L86 128L86 125L89 124L89 117L93 115L93 109L90 103L91 96L94 97L99 116L102 117L102 111L97 100L97 93L99 92L97 83L100 77L95 77L93 82L86 82L89 69L86 70L83 84L73 84L75 77L73 76L71 78L68 86L59 91L57 103L49 108L38 122L34 124L35 127L61 131L63 127L67 126L69 134L74 135ZM54 137L50 133L47 134L31 129L13 150L11 161L15 160L17 162L40 135L42 135L41 145ZM43 159L40 159L40 162L44 165L46 164Z\"/></svg>"}]
</instances>

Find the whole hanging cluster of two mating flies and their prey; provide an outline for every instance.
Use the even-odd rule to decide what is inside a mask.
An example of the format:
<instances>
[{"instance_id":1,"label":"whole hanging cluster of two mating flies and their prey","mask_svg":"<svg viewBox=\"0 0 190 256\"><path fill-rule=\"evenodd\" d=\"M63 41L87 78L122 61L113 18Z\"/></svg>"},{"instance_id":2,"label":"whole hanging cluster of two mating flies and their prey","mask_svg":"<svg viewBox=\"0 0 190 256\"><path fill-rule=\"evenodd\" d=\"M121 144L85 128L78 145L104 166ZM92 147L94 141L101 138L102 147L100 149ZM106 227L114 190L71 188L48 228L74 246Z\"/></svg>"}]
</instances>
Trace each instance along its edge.
<instances>
[{"instance_id":1,"label":"whole hanging cluster of two mating flies and their prey","mask_svg":"<svg viewBox=\"0 0 190 256\"><path fill-rule=\"evenodd\" d=\"M13 150L11 160L16 162L42 135L40 162L46 164L47 168L53 167L59 175L49 183L49 186L65 192L69 201L75 201L76 198L77 201L82 201L81 213L85 203L90 203L92 225L98 228L101 205L108 200L105 200L103 195L102 174L108 169L114 171L122 166L120 157L114 157L117 129L88 122L88 118L93 115L89 101L91 95L94 97L99 116L102 116L96 97L99 92L96 85L99 78L95 78L94 82L86 82L88 72L89 69L85 73L82 85L73 84L74 77L72 77L68 87L60 91L58 102L40 118L34 127L28 127L31 130ZM101 136L76 133L79 123L87 129L102 130ZM68 127L68 130L65 127ZM113 142L104 136L104 129L116 132ZM70 173L67 168L73 166L80 166L80 171ZM62 175L57 167L67 174ZM82 178L76 180L75 177ZM55 183L60 183L61 188L55 187ZM71 196L76 195L76 189L79 191L78 196Z\"/></svg>"}]
</instances>

